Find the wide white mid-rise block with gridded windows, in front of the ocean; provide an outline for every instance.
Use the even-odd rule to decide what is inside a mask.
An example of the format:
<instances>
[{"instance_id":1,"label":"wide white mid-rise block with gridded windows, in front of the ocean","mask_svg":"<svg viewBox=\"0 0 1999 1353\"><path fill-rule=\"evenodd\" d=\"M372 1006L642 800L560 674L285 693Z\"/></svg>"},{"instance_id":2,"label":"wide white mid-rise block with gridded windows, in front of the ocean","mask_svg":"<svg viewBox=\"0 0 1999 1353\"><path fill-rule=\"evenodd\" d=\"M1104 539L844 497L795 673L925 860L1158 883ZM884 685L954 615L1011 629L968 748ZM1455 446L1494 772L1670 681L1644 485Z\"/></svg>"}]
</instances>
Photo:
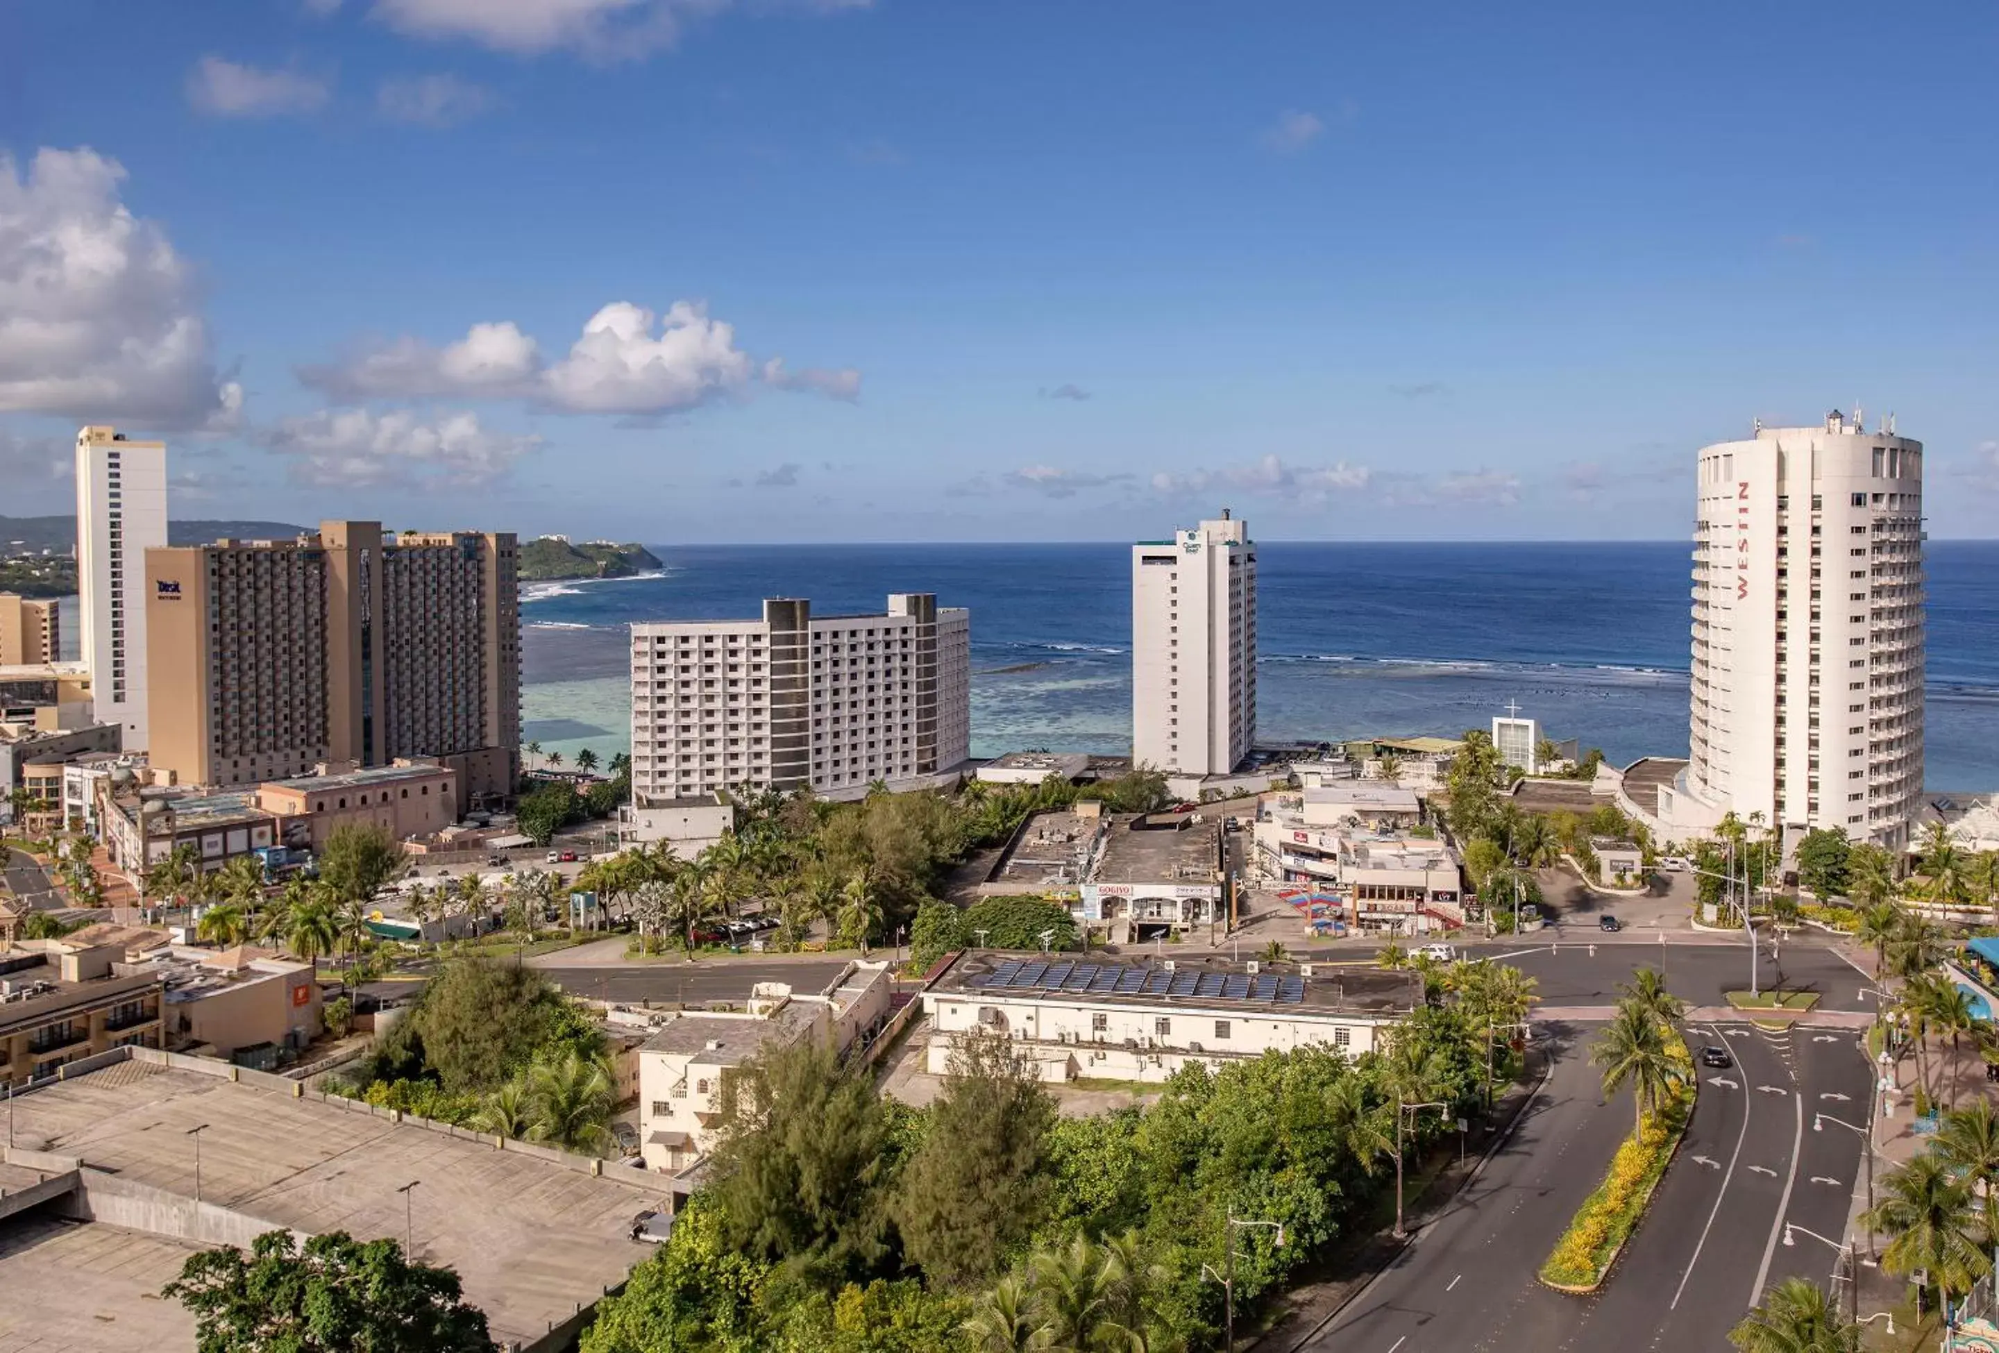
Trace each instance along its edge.
<instances>
[{"instance_id":1,"label":"wide white mid-rise block with gridded windows, in front of the ocean","mask_svg":"<svg viewBox=\"0 0 1999 1353\"><path fill-rule=\"evenodd\" d=\"M880 616L632 626L632 791L736 785L860 797L938 783L972 755L972 616L928 592Z\"/></svg>"}]
</instances>

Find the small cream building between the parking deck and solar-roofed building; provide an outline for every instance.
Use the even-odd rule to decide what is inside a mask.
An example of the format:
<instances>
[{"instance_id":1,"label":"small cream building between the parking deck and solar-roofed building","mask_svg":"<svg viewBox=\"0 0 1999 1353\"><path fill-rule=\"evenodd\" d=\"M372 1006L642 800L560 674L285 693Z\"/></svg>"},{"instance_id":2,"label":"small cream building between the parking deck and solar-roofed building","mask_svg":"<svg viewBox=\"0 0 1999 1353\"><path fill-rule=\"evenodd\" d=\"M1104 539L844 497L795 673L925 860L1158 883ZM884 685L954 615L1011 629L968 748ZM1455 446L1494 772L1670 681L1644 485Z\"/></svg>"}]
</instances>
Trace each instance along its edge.
<instances>
[{"instance_id":1,"label":"small cream building between the parking deck and solar-roofed building","mask_svg":"<svg viewBox=\"0 0 1999 1353\"><path fill-rule=\"evenodd\" d=\"M646 1015L652 1033L638 1051L640 1151L646 1167L676 1175L696 1165L722 1115L722 1087L736 1067L768 1047L804 1037L846 1051L890 1017L888 963L850 963L818 993L758 983L748 1009Z\"/></svg>"}]
</instances>

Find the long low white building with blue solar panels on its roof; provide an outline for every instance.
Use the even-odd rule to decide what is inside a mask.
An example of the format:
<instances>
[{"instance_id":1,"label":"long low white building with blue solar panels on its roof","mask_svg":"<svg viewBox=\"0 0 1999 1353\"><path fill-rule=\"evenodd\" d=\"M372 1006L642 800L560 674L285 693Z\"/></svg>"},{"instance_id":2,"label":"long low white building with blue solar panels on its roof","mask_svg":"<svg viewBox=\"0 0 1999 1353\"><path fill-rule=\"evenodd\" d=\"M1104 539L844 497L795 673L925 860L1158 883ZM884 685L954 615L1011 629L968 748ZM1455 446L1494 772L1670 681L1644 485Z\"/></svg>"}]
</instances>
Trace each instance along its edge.
<instances>
[{"instance_id":1,"label":"long low white building with blue solar panels on its roof","mask_svg":"<svg viewBox=\"0 0 1999 1353\"><path fill-rule=\"evenodd\" d=\"M1361 1055L1423 1003L1411 971L1311 963L1075 959L974 949L924 987L930 1071L972 1035L1001 1035L1047 1081L1163 1081L1265 1051Z\"/></svg>"}]
</instances>

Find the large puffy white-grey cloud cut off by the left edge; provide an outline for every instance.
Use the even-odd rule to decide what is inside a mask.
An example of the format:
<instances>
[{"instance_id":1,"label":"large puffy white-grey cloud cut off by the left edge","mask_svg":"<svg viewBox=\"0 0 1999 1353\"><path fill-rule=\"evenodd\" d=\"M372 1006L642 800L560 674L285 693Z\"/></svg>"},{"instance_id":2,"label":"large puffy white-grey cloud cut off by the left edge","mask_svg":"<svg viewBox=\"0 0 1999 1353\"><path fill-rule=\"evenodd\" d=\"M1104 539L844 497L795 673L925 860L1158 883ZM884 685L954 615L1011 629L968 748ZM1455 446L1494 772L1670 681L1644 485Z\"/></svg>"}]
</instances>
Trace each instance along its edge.
<instances>
[{"instance_id":1,"label":"large puffy white-grey cloud cut off by the left edge","mask_svg":"<svg viewBox=\"0 0 1999 1353\"><path fill-rule=\"evenodd\" d=\"M26 178L0 154L0 412L232 422L194 270L118 198L94 150L38 150Z\"/></svg>"}]
</instances>

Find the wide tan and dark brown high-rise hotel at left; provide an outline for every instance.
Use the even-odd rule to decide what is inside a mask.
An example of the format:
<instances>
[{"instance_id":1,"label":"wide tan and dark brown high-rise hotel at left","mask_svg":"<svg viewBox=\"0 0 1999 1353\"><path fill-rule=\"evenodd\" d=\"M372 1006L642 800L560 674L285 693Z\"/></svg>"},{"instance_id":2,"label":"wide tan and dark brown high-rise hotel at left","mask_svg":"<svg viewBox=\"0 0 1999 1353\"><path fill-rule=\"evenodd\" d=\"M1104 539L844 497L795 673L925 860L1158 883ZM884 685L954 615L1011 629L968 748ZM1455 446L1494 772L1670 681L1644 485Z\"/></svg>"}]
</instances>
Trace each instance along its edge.
<instances>
[{"instance_id":1,"label":"wide tan and dark brown high-rise hotel at left","mask_svg":"<svg viewBox=\"0 0 1999 1353\"><path fill-rule=\"evenodd\" d=\"M146 552L152 765L182 783L438 757L464 797L520 775L520 582L506 532L322 522Z\"/></svg>"}]
</instances>

